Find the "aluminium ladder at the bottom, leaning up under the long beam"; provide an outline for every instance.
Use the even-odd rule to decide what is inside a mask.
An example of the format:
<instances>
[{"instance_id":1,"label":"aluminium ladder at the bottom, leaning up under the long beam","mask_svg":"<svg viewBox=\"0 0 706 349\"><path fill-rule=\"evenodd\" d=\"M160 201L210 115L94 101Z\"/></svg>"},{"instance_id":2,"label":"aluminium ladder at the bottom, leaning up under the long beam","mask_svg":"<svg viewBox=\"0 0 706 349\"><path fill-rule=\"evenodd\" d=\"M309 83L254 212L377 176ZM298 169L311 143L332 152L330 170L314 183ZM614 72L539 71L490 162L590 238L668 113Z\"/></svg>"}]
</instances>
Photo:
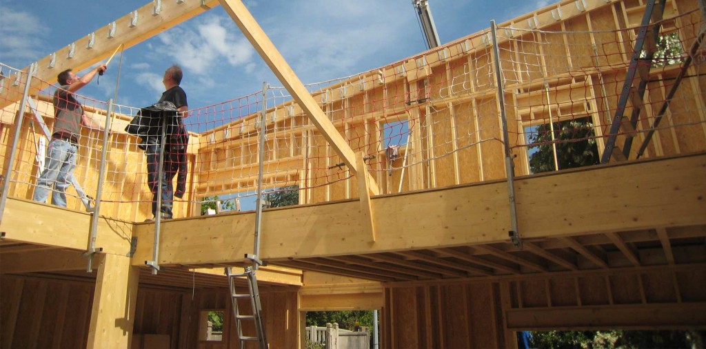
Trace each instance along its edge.
<instances>
[{"instance_id":1,"label":"aluminium ladder at the bottom, leaning up under the long beam","mask_svg":"<svg viewBox=\"0 0 706 349\"><path fill-rule=\"evenodd\" d=\"M248 266L245 268L244 273L232 273L232 268L226 268L226 275L228 277L228 285L230 289L232 307L233 307L233 318L236 321L237 336L240 343L240 347L244 348L246 342L257 342L260 348L268 348L267 338L265 336L265 326L263 324L262 316L262 304L260 302L260 293L258 291L258 285L254 270L252 267ZM235 278L246 277L248 282L248 293L238 293L237 287L235 285ZM238 300L244 300L248 298L251 304L252 314L242 314ZM243 333L243 321L252 321L253 327L255 328L256 336L245 336Z\"/></svg>"}]
</instances>

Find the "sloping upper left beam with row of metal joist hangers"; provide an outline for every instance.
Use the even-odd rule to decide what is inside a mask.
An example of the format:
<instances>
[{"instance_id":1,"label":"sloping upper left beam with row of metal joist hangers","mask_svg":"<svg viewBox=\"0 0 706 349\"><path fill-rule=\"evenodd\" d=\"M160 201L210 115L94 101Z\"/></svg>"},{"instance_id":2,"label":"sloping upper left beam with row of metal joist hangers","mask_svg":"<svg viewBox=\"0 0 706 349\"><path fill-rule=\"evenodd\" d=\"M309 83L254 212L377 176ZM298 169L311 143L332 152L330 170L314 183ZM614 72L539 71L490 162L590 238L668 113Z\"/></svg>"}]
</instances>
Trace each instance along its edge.
<instances>
[{"instance_id":1,"label":"sloping upper left beam with row of metal joist hangers","mask_svg":"<svg viewBox=\"0 0 706 349\"><path fill-rule=\"evenodd\" d=\"M85 37L58 49L53 54L40 59L36 62L37 73L35 73L35 76L42 81L56 83L56 76L61 71L73 69L78 72L86 69L110 57L121 44L123 49L133 47L164 30L189 20L193 16L218 6L218 1L206 0L203 6L201 0L183 1L180 4L177 1L160 1L160 4L160 11L156 15L154 2L149 1L149 4L116 19L114 26L112 23L105 25L95 30L95 32L89 33ZM132 25L133 13L137 13L135 25ZM113 32L112 37L109 35L111 32ZM92 38L94 39L92 40L93 45L88 48ZM71 55L72 47L73 55ZM30 67L26 66L23 71L26 72L29 69ZM108 71L108 73L112 73L112 71ZM6 88L0 96L0 109L20 100L23 93L20 86L13 87L9 83L5 85ZM46 85L40 85L37 79L34 79L34 83L30 86L30 95L34 95L41 88L46 87Z\"/></svg>"}]
</instances>

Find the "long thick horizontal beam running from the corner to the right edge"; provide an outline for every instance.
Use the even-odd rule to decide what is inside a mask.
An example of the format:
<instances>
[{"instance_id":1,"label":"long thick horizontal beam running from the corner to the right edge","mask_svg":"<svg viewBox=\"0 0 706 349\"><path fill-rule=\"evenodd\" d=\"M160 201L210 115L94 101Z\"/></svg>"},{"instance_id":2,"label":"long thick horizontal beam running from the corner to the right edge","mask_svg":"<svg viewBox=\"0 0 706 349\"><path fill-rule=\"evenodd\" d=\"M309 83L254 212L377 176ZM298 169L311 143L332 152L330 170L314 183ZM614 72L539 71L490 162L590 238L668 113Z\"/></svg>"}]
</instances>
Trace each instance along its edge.
<instances>
[{"instance_id":1,"label":"long thick horizontal beam running from the corner to the right edge","mask_svg":"<svg viewBox=\"0 0 706 349\"><path fill-rule=\"evenodd\" d=\"M622 189L616 189L613 193L618 197L639 198L639 210L637 207L624 207L626 202L631 201L607 200L597 203L571 199L594 194L595 188L604 182L602 179L609 177L631 178L634 185L622 186ZM524 234L531 238L597 235L606 230L642 230L645 226L650 229L655 226L666 227L670 234L673 231L676 234L681 227L706 225L706 215L703 215L706 212L706 200L698 200L699 196L706 197L706 182L700 180L705 177L705 154L588 167L546 177L520 177L517 180L520 188L517 193L517 215L521 217L521 225L527 227L523 230ZM679 183L679 191L683 193L677 199L674 199L675 186L662 183L665 178L674 178ZM642 193L639 196L637 192L633 193L634 187L640 187ZM528 195L528 192L536 195ZM484 199L481 201L473 198ZM352 218L351 213L359 211L359 201L265 210L263 231L270 233L262 236L261 258L270 262L287 261L289 257L304 259L353 254L366 254L366 258L371 258L371 255L390 251L508 242L510 215L505 182L487 181L482 184L378 196L371 200L376 209L378 231L374 244L360 233L366 223ZM561 205L557 205L557 201L561 201ZM595 219L609 211L610 220ZM35 226L34 220L47 224L45 218L32 211L28 210L26 215L32 219L23 221L25 226ZM11 220L11 217L15 215L6 212L4 220ZM551 224L547 223L547 217L554 217L549 219ZM250 252L254 218L254 213L223 213L208 218L202 216L163 222L162 237L168 238L160 244L160 265L237 261ZM571 224L567 224L564 218ZM2 227L5 224L3 222ZM152 241L154 225L138 223L134 226L133 234L138 237L138 241ZM561 229L557 226L561 226ZM73 231L70 228L67 226L65 229ZM60 235L62 231L56 231L56 236L63 238L64 235ZM31 232L25 234L27 239L34 238ZM689 234L704 236L702 231ZM80 249L83 249L84 241L80 240ZM607 242L609 239L600 237L597 241ZM205 254L204 251L209 253ZM152 244L138 244L133 261L141 265L151 256Z\"/></svg>"}]
</instances>

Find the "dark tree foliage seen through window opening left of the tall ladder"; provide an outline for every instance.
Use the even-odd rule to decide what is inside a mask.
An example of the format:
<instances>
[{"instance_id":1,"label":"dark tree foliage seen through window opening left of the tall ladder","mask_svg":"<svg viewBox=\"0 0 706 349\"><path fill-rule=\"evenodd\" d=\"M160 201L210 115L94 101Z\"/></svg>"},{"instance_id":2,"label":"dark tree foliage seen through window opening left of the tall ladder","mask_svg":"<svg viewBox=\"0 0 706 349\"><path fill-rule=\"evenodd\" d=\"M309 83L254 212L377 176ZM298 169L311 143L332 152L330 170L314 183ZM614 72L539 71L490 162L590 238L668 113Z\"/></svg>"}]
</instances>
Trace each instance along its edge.
<instances>
[{"instance_id":1,"label":"dark tree foliage seen through window opening left of the tall ladder","mask_svg":"<svg viewBox=\"0 0 706 349\"><path fill-rule=\"evenodd\" d=\"M593 124L588 118L554 123L554 142L560 170L596 165L600 161L596 140L592 138ZM537 126L530 135L530 170L541 173L556 170L551 126Z\"/></svg>"}]
</instances>

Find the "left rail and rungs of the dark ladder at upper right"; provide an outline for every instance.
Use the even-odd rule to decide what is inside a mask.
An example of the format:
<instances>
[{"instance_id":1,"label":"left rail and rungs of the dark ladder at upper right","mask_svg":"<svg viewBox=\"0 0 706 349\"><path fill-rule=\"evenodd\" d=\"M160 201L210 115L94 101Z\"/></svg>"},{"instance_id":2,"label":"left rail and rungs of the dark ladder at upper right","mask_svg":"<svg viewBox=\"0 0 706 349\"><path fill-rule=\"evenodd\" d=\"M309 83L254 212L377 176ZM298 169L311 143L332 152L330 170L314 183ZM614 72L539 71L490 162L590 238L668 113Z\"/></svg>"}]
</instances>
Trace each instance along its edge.
<instances>
[{"instance_id":1,"label":"left rail and rungs of the dark ladder at upper right","mask_svg":"<svg viewBox=\"0 0 706 349\"><path fill-rule=\"evenodd\" d=\"M657 1L659 1L659 4L655 4ZM630 94L631 93L636 93L638 94L637 96L633 96L635 98L640 98L644 97L645 93L645 88L640 88L640 86L647 85L647 81L645 77L640 77L640 86L638 86L637 90L633 90L633 82L635 81L635 74L638 73L638 69L640 68L640 61L647 61L649 58L649 67L652 66L652 58L654 57L654 52L647 52L647 57L645 59L640 59L640 55L642 54L642 47L645 46L645 41L646 40L654 40L654 45L657 45L657 40L659 37L659 27L661 26L659 24L659 21L655 21L652 25L650 25L650 20L652 20L654 16L654 6L659 6L659 13L657 13L657 18L662 18L664 14L664 7L666 6L666 0L648 0L647 4L645 5L645 14L642 16L642 23L640 23L640 30L638 31L638 38L635 40L635 47L633 48L633 55L630 58L630 65L628 66L628 73L626 74L626 79L625 83L623 83L623 89L621 90L621 95L618 99L618 107L616 108L615 116L613 118L613 122L611 123L611 129L608 132L608 141L606 142L605 150L603 152L603 155L601 156L601 163L607 163L610 161L612 156L620 156L623 155L625 158L627 158L627 154L629 154L629 149L628 152L623 152L623 153L616 153L616 141L618 138L618 131L621 128L621 125L623 124L623 117L624 113L626 110L626 106L628 105L628 100L630 99ZM648 33L648 31L651 31ZM652 38L648 37L647 35L652 35ZM643 62L644 63L644 62ZM647 69L649 72L649 68ZM640 90L642 90L642 95L640 95ZM630 118L630 125L637 125L638 123L638 118L639 118L639 108L638 107L633 107L633 115ZM633 119L634 119L634 124L633 124ZM633 126L634 128L634 126ZM633 135L634 136L634 135ZM632 137L628 137L630 139ZM626 140L627 141L627 140ZM628 143L628 144L631 144ZM623 146L625 148L625 146Z\"/></svg>"}]
</instances>

